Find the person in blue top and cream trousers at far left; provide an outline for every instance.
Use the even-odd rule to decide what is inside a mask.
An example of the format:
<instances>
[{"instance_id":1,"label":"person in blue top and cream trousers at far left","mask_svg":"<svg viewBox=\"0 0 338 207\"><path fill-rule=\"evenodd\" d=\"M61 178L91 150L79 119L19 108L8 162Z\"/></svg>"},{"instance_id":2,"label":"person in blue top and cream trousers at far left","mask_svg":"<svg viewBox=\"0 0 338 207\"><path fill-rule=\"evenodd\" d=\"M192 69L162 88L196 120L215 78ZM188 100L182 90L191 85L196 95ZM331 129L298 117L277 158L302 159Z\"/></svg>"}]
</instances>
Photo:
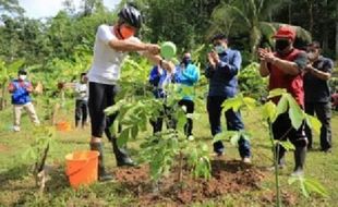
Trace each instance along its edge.
<instances>
[{"instance_id":1,"label":"person in blue top and cream trousers at far left","mask_svg":"<svg viewBox=\"0 0 338 207\"><path fill-rule=\"evenodd\" d=\"M32 83L27 81L26 77L27 72L24 69L21 69L17 72L17 78L13 80L9 85L9 92L12 94L14 132L20 132L21 114L23 109L28 113L35 125L40 124L29 95L34 89Z\"/></svg>"}]
</instances>

